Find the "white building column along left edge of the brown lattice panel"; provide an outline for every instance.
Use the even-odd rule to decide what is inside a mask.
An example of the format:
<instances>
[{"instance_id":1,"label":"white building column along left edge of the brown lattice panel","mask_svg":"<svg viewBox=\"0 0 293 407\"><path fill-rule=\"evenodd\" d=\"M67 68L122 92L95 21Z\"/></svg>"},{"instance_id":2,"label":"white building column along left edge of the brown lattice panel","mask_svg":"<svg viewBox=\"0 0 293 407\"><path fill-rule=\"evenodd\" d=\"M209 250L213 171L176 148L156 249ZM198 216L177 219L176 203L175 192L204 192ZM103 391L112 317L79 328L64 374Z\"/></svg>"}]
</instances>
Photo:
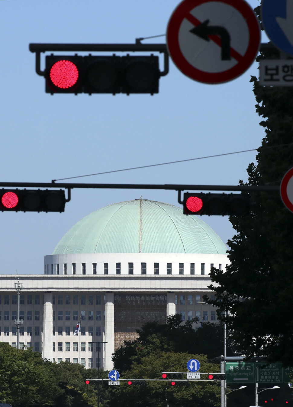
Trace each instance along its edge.
<instances>
[{"instance_id":1,"label":"white building column along left edge of the brown lattice panel","mask_svg":"<svg viewBox=\"0 0 293 407\"><path fill-rule=\"evenodd\" d=\"M113 369L112 354L114 353L114 294L106 293L105 303L105 352L104 352L104 370Z\"/></svg>"}]
</instances>

